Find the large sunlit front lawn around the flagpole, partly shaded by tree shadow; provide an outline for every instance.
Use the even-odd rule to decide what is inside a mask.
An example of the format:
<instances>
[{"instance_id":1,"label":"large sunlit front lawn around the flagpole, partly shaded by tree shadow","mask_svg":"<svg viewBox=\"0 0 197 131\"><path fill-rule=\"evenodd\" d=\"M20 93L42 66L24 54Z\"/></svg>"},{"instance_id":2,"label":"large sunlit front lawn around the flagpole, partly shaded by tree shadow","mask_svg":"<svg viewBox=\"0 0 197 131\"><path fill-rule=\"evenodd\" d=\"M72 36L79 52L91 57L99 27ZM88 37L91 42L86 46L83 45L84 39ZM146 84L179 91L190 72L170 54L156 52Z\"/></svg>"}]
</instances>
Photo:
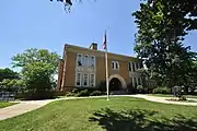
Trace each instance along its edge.
<instances>
[{"instance_id":1,"label":"large sunlit front lawn around the flagpole, partly shaded by tree shadow","mask_svg":"<svg viewBox=\"0 0 197 131\"><path fill-rule=\"evenodd\" d=\"M197 109L131 97L60 100L0 122L1 131L195 131Z\"/></svg>"}]
</instances>

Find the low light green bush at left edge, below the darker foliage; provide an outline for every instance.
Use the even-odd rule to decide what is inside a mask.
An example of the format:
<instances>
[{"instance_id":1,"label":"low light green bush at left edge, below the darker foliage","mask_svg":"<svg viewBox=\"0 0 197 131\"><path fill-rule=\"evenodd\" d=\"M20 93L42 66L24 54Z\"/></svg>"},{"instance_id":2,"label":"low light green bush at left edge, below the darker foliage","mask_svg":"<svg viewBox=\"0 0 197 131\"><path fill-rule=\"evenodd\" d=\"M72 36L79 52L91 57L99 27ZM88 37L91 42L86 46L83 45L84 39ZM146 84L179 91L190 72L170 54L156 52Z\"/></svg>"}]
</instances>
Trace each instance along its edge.
<instances>
[{"instance_id":1,"label":"low light green bush at left edge, below the darker foliage","mask_svg":"<svg viewBox=\"0 0 197 131\"><path fill-rule=\"evenodd\" d=\"M0 86L2 87L2 91L7 92L21 92L24 90L25 84L23 80L10 80L10 79L4 79L2 82L0 82Z\"/></svg>"}]
</instances>

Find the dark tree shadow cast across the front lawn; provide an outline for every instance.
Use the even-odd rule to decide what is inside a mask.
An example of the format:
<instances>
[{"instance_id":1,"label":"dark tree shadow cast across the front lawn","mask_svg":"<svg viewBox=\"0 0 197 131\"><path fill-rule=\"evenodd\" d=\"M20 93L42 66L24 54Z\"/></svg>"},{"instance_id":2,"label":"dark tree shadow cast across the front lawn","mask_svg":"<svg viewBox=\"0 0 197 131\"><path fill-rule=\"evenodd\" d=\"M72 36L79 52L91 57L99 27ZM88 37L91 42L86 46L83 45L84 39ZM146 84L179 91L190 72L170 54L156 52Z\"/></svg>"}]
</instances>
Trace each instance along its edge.
<instances>
[{"instance_id":1,"label":"dark tree shadow cast across the front lawn","mask_svg":"<svg viewBox=\"0 0 197 131\"><path fill-rule=\"evenodd\" d=\"M197 119L176 115L173 119L158 118L157 111L131 109L115 111L105 108L94 112L90 121L97 121L106 131L197 131Z\"/></svg>"}]
</instances>

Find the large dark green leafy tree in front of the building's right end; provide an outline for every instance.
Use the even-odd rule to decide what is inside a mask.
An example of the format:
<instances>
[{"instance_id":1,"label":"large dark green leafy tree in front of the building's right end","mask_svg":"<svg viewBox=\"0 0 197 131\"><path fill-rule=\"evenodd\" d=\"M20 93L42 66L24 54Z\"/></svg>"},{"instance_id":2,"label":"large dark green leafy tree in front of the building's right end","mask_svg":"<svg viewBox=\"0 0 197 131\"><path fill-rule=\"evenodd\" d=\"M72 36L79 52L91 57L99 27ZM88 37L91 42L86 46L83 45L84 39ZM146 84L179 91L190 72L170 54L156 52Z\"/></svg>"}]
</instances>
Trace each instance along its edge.
<instances>
[{"instance_id":1,"label":"large dark green leafy tree in front of the building's right end","mask_svg":"<svg viewBox=\"0 0 197 131\"><path fill-rule=\"evenodd\" d=\"M135 51L169 87L187 82L187 71L196 58L183 40L189 29L197 28L192 17L197 3L189 0L187 4L193 7L186 9L179 2L148 0L132 14L138 25Z\"/></svg>"}]
</instances>

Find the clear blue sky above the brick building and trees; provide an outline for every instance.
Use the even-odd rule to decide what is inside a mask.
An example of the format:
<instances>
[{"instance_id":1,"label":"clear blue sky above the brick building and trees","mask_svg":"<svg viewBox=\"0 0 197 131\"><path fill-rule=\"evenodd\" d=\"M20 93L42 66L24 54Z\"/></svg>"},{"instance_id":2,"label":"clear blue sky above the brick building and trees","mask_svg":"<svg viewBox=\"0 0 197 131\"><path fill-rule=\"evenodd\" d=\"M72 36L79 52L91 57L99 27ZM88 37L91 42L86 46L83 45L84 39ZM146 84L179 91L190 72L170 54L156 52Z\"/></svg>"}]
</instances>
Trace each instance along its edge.
<instances>
[{"instance_id":1,"label":"clear blue sky above the brick building and trees","mask_svg":"<svg viewBox=\"0 0 197 131\"><path fill-rule=\"evenodd\" d=\"M78 0L77 0L78 1ZM48 49L62 56L63 45L102 49L107 29L108 51L136 56L134 52L135 17L140 0L83 0L70 13L54 0L0 0L0 68L11 68L11 58L27 48ZM197 51L197 32L185 44Z\"/></svg>"}]
</instances>

